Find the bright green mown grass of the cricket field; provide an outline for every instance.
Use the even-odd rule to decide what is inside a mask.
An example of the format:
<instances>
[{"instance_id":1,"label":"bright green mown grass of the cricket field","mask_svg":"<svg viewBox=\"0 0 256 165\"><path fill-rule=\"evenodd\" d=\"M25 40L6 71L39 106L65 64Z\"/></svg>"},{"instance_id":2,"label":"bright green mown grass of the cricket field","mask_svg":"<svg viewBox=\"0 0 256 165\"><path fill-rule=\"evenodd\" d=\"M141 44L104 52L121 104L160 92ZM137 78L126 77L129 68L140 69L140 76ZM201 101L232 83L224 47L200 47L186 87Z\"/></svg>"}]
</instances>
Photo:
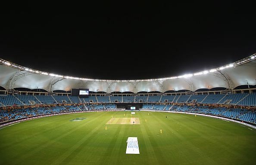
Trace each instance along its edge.
<instances>
[{"instance_id":1,"label":"bright green mown grass of the cricket field","mask_svg":"<svg viewBox=\"0 0 256 165\"><path fill-rule=\"evenodd\" d=\"M133 117L140 124L120 119ZM128 137L140 154L125 154ZM255 154L256 130L178 113L76 113L0 129L1 165L253 165Z\"/></svg>"}]
</instances>

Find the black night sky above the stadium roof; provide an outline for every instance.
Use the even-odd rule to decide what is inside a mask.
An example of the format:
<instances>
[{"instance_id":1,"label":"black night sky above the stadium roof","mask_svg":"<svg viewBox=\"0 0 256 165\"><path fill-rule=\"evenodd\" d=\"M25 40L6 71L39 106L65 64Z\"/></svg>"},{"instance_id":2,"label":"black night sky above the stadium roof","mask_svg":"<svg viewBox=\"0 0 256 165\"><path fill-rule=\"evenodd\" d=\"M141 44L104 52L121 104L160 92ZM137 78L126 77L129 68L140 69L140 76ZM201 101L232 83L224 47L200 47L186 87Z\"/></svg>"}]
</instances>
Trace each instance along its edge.
<instances>
[{"instance_id":1,"label":"black night sky above the stadium roof","mask_svg":"<svg viewBox=\"0 0 256 165\"><path fill-rule=\"evenodd\" d=\"M212 69L256 52L252 3L1 6L0 58L50 73L147 79Z\"/></svg>"}]
</instances>

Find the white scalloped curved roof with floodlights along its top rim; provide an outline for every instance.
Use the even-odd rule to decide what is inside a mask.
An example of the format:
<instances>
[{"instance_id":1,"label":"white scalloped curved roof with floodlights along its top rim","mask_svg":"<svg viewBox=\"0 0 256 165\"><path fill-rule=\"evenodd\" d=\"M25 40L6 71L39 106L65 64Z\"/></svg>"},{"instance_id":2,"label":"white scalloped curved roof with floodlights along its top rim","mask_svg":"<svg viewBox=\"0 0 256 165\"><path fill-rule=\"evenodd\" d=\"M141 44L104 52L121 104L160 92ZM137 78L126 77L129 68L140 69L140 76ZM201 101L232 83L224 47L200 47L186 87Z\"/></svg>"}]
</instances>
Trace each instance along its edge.
<instances>
[{"instance_id":1,"label":"white scalloped curved roof with floodlights along its top rim","mask_svg":"<svg viewBox=\"0 0 256 165\"><path fill-rule=\"evenodd\" d=\"M203 70L198 73L165 77L158 79L87 79L46 73L23 67L0 59L0 86L5 89L28 88L70 91L71 89L88 88L93 92L166 92L170 90L212 89L224 87L234 89L240 85L256 84L256 54L232 64Z\"/></svg>"}]
</instances>

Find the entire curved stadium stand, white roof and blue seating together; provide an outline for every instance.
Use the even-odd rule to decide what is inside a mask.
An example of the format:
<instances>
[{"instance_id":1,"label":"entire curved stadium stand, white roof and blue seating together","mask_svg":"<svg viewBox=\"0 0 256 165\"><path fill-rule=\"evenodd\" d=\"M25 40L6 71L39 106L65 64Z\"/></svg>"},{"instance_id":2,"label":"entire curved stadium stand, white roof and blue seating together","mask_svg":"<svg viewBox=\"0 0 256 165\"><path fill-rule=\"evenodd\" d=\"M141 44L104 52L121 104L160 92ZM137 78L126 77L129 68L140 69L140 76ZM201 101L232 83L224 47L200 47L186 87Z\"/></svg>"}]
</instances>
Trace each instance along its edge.
<instances>
[{"instance_id":1,"label":"entire curved stadium stand, white roof and blue seating together","mask_svg":"<svg viewBox=\"0 0 256 165\"><path fill-rule=\"evenodd\" d=\"M138 104L139 109L203 113L255 123L255 57L253 54L188 75L137 80L83 79L46 73L0 59L0 70L3 70L0 72L0 121L50 113L115 110ZM49 92L35 92L35 81L30 82L27 77L38 81L41 89ZM77 88L78 80L82 82L80 85L86 84L86 88L94 87L88 98L73 96L72 88ZM67 86L71 93L67 92ZM19 88L22 91L18 91ZM122 93L122 89L128 93Z\"/></svg>"}]
</instances>

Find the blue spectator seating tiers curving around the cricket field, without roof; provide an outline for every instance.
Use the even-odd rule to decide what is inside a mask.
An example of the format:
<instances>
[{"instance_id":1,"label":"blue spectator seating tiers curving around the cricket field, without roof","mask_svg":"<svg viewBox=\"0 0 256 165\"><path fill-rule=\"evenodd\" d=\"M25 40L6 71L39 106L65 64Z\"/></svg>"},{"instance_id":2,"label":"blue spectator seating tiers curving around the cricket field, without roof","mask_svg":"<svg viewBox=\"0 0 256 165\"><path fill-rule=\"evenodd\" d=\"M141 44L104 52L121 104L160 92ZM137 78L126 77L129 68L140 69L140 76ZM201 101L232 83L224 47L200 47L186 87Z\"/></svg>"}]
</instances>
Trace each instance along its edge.
<instances>
[{"instance_id":1,"label":"blue spectator seating tiers curving around the cricket field, without roof","mask_svg":"<svg viewBox=\"0 0 256 165\"><path fill-rule=\"evenodd\" d=\"M109 104L110 101L113 102ZM0 95L1 108L24 106L24 105L54 105L54 107L33 107L16 108L11 110L0 110L0 121L24 118L50 113L87 111L87 110L108 110L117 109L116 100L120 103L144 102L142 109L149 110L171 110L181 112L203 113L227 118L240 119L242 121L255 123L256 113L254 110L230 107L212 107L212 104L227 105L226 100L231 100L228 105L255 107L256 93L251 94L215 94L215 95L168 95L168 96L89 96L89 98L79 98L77 96L47 96L47 95ZM172 101L177 103L171 103ZM87 102L88 101L88 102ZM93 103L90 103L93 101ZM201 101L202 103L197 103ZM33 104L32 104L33 102ZM148 102L148 103L147 103ZM187 102L187 103L186 103ZM24 103L24 104L23 104ZM99 104L100 103L100 104ZM171 103L171 104L170 104ZM66 104L56 106L56 104ZM69 105L76 104L76 105ZM79 105L81 104L81 105ZM176 105L180 104L180 105ZM190 105L206 104L206 105ZM237 104L237 105L236 105Z\"/></svg>"}]
</instances>

